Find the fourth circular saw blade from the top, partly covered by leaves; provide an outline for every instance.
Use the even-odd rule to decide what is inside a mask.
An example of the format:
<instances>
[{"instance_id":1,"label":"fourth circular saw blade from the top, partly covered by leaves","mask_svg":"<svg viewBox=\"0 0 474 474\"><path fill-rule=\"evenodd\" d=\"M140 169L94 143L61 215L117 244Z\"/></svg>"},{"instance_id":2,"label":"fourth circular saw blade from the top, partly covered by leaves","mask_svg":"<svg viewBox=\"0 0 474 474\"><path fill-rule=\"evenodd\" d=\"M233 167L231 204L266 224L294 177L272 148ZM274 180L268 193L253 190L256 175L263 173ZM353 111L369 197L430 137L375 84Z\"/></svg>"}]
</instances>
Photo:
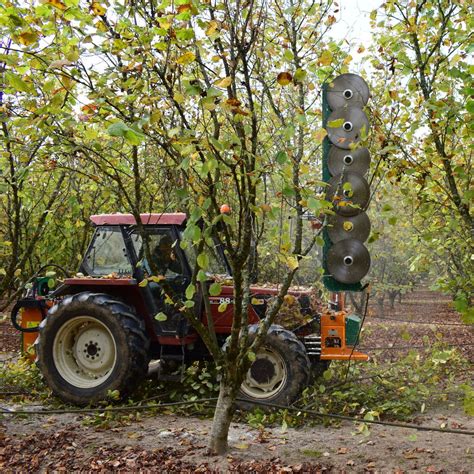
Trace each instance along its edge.
<instances>
[{"instance_id":1,"label":"fourth circular saw blade from the top, partly covered by leaves","mask_svg":"<svg viewBox=\"0 0 474 474\"><path fill-rule=\"evenodd\" d=\"M369 183L360 174L346 171L330 179L326 199L333 202L337 214L355 216L369 203Z\"/></svg>"}]
</instances>

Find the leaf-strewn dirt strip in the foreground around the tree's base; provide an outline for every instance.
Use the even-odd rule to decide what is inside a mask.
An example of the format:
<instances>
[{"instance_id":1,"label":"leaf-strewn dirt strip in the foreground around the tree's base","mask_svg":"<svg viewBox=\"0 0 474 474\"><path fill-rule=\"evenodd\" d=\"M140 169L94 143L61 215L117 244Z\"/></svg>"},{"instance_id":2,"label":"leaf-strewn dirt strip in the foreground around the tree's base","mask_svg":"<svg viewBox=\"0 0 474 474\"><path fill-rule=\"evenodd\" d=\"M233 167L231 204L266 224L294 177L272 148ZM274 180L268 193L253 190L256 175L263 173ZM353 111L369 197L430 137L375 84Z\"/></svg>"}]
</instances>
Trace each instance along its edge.
<instances>
[{"instance_id":1,"label":"leaf-strewn dirt strip in the foreground around the tree's base","mask_svg":"<svg viewBox=\"0 0 474 474\"><path fill-rule=\"evenodd\" d=\"M431 413L416 420L430 426L474 430L460 412ZM0 470L98 470L156 472L474 472L474 439L467 435L372 426L317 425L256 430L232 424L226 457L206 451L210 420L169 415L97 430L72 415L19 420L4 417Z\"/></svg>"}]
</instances>

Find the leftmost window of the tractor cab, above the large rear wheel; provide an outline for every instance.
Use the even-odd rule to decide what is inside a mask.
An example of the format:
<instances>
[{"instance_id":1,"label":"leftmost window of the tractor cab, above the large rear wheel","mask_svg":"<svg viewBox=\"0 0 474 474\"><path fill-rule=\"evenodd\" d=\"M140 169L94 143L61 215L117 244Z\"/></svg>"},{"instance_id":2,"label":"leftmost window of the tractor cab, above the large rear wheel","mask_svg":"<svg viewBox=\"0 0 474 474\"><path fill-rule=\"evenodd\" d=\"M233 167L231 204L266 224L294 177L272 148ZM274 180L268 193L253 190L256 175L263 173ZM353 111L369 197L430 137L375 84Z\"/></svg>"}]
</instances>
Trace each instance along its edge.
<instances>
[{"instance_id":1,"label":"leftmost window of the tractor cab, above the large rear wheel","mask_svg":"<svg viewBox=\"0 0 474 474\"><path fill-rule=\"evenodd\" d=\"M91 276L105 276L111 273L132 274L132 266L120 228L111 226L96 230L82 267Z\"/></svg>"}]
</instances>

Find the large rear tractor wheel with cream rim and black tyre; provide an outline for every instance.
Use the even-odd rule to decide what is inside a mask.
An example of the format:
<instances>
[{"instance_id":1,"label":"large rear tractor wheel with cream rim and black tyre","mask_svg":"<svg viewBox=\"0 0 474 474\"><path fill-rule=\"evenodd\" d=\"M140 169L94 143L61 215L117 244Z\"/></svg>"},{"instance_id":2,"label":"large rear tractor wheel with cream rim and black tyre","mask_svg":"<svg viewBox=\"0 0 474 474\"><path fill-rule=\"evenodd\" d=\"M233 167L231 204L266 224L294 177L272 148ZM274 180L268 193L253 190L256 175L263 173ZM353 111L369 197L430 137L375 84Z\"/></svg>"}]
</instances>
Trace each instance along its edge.
<instances>
[{"instance_id":1,"label":"large rear tractor wheel with cream rim and black tyre","mask_svg":"<svg viewBox=\"0 0 474 474\"><path fill-rule=\"evenodd\" d=\"M107 294L79 293L53 306L35 342L37 365L54 394L87 405L129 393L146 375L148 345L134 310Z\"/></svg>"}]
</instances>

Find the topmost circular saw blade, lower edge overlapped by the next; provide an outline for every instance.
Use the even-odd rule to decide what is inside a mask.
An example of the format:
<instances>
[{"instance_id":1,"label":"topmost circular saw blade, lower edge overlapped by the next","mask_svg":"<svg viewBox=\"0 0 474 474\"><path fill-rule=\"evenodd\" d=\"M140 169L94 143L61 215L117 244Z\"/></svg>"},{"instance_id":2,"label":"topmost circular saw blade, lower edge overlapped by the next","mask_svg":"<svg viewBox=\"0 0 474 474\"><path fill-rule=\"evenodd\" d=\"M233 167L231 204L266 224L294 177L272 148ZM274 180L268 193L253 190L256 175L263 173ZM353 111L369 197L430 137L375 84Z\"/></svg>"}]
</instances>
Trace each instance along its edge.
<instances>
[{"instance_id":1,"label":"topmost circular saw blade, lower edge overlapped by the next","mask_svg":"<svg viewBox=\"0 0 474 474\"><path fill-rule=\"evenodd\" d=\"M357 74L341 74L330 82L327 88L327 100L331 110L346 105L362 108L369 101L369 97L369 86Z\"/></svg>"}]
</instances>

